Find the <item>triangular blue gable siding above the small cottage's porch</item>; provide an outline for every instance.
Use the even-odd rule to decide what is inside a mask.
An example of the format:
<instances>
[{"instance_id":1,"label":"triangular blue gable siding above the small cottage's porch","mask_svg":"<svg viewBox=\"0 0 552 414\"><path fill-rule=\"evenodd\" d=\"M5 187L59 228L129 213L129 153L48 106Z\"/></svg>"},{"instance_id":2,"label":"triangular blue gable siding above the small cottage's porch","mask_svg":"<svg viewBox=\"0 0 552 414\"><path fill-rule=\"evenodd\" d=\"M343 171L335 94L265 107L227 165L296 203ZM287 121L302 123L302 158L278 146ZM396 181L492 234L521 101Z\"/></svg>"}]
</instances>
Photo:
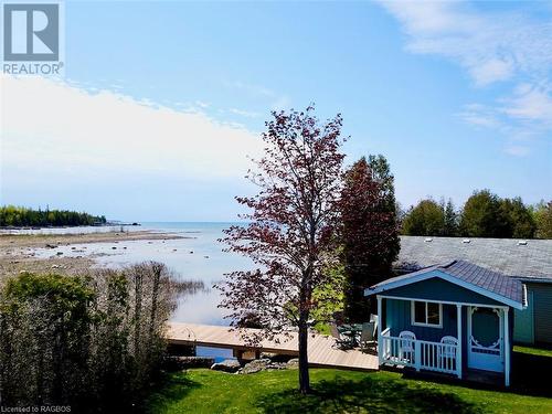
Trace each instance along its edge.
<instances>
[{"instance_id":1,"label":"triangular blue gable siding above the small cottage's porch","mask_svg":"<svg viewBox=\"0 0 552 414\"><path fill-rule=\"evenodd\" d=\"M503 306L503 304L466 289L461 286L452 284L437 276L406 286L396 287L394 289L384 290L382 291L382 295L435 301Z\"/></svg>"}]
</instances>

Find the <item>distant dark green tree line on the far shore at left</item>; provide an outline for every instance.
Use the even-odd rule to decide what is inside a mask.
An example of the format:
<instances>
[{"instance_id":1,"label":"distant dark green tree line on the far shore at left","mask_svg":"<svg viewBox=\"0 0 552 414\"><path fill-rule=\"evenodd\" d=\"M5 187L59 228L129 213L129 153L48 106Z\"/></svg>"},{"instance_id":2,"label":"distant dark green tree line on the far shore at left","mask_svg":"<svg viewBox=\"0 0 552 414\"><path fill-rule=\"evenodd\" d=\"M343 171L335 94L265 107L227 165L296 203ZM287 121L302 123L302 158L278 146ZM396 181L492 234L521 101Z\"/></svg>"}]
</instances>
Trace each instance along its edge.
<instances>
[{"instance_id":1,"label":"distant dark green tree line on the far shore at left","mask_svg":"<svg viewBox=\"0 0 552 414\"><path fill-rule=\"evenodd\" d=\"M0 206L0 227L22 226L74 226L106 224L104 215L92 215L68 210L34 210L23 206Z\"/></svg>"}]
</instances>

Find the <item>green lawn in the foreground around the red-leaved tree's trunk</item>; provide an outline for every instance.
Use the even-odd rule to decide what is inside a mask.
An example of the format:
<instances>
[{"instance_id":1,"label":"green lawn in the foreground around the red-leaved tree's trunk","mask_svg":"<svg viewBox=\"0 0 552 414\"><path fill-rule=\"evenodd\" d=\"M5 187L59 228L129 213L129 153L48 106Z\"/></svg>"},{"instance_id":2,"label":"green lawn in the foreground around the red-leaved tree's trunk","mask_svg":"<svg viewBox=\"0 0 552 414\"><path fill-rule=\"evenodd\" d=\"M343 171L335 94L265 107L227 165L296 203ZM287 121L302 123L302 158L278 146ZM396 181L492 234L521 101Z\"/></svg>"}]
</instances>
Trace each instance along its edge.
<instances>
[{"instance_id":1,"label":"green lawn in the foreground around the red-leaved tree's trunk","mask_svg":"<svg viewBox=\"0 0 552 414\"><path fill-rule=\"evenodd\" d=\"M189 370L171 374L147 408L151 414L552 413L552 399L407 380L384 371L312 369L314 392L301 396L297 375L296 370L250 375Z\"/></svg>"}]
</instances>

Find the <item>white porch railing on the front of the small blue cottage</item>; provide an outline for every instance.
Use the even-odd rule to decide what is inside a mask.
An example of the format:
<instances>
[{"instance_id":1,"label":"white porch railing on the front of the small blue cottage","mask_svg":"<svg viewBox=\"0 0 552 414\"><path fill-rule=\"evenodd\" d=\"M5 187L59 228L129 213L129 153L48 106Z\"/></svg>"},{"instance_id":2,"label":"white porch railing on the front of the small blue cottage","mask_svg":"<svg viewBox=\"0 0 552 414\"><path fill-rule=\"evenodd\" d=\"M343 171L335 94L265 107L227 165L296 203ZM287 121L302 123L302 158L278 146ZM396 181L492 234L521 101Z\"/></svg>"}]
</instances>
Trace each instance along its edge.
<instances>
[{"instance_id":1,"label":"white porch railing on the front of the small blue cottage","mask_svg":"<svg viewBox=\"0 0 552 414\"><path fill-rule=\"evenodd\" d=\"M461 352L459 344L422 341L391 337L390 329L382 332L380 364L412 367L420 370L437 371L460 375L461 367L456 355Z\"/></svg>"}]
</instances>

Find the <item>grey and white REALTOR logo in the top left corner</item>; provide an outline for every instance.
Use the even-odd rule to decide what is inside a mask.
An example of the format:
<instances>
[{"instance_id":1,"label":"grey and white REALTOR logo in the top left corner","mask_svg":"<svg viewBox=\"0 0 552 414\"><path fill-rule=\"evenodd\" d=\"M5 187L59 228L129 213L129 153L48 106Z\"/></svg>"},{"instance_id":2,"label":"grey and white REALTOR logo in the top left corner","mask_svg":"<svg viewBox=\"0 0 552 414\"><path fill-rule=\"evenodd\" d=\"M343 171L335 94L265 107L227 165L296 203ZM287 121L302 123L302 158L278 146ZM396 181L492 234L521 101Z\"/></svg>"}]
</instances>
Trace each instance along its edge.
<instances>
[{"instance_id":1,"label":"grey and white REALTOR logo in the top left corner","mask_svg":"<svg viewBox=\"0 0 552 414\"><path fill-rule=\"evenodd\" d=\"M55 0L39 1L2 4L4 73L60 74L62 4Z\"/></svg>"}]
</instances>

